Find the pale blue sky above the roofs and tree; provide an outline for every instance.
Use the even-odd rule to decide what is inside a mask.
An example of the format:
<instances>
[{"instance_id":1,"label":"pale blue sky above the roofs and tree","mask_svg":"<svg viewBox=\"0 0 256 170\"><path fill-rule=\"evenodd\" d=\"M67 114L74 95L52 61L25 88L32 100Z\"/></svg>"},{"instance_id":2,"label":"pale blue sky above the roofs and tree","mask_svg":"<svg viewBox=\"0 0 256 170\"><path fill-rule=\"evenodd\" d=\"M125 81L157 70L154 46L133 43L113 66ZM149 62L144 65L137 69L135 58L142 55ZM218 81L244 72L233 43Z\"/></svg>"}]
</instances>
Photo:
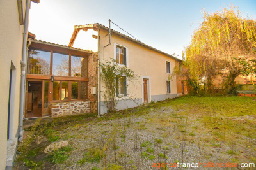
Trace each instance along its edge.
<instances>
[{"instance_id":1,"label":"pale blue sky above the roofs and tree","mask_svg":"<svg viewBox=\"0 0 256 170\"><path fill-rule=\"evenodd\" d=\"M238 6L244 17L256 18L255 0L42 0L39 4L31 3L29 32L36 34L36 39L68 45L74 25L108 26L111 19L143 43L181 58L184 46L189 45L193 31L202 22L203 8L212 13L221 10L221 6L228 8L230 3ZM113 24L111 28L122 32ZM74 47L97 50L92 34L96 33L80 31Z\"/></svg>"}]
</instances>

